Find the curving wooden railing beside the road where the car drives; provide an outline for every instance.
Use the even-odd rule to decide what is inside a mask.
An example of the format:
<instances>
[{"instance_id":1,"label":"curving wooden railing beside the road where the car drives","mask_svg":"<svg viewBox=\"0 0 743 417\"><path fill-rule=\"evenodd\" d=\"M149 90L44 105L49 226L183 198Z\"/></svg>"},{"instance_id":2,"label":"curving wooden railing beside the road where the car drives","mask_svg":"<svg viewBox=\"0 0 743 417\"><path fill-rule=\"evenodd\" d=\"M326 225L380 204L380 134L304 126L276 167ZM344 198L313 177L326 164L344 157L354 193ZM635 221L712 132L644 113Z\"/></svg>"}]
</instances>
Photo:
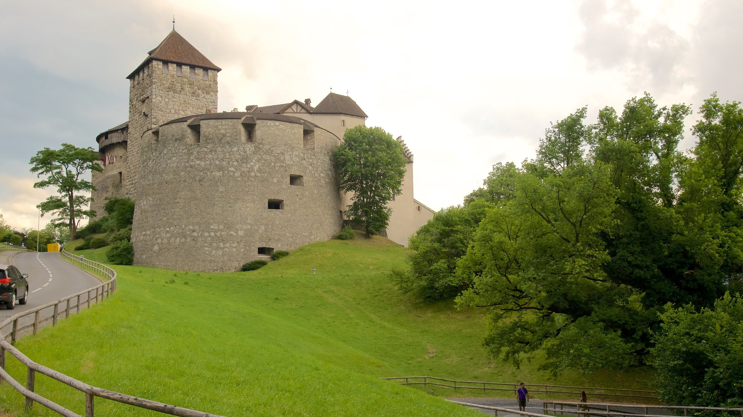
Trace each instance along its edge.
<instances>
[{"instance_id":1,"label":"curving wooden railing beside the road where the car drives","mask_svg":"<svg viewBox=\"0 0 743 417\"><path fill-rule=\"evenodd\" d=\"M94 417L94 399L96 397L106 398L111 401L117 401L123 404L129 404L135 407L145 408L147 410L159 411L160 413L166 413L172 416L221 417L215 414L203 413L201 411L190 410L188 408L183 408L183 407L175 407L174 405L163 404L158 401L147 400L144 398L137 398L132 395L116 393L114 391L104 390L103 388L93 387L92 385L85 384L84 382L77 381L77 379L75 378L71 378L67 375L64 375L61 372L57 372L51 368L36 364L36 362L31 361L30 358L28 358L21 351L16 349L16 347L13 347L13 343L16 341L16 338L18 337L18 333L20 330L27 328L29 326L33 326L33 334L36 335L36 331L39 328L39 322L40 322L39 315L43 309L47 309L51 306L54 307L54 315L52 318L52 323L53 325L56 325L57 315L59 314L59 304L65 303L65 317L69 317L71 308L73 307L77 308L77 313L80 314L80 303L81 301L85 301L84 297L81 299L83 295L87 294L88 308L90 308L91 295L93 292L95 292L95 302L98 303L99 298L100 298L100 301L105 300L106 298L110 297L111 294L116 289L116 271L114 271L113 269L109 268L106 265L103 265L103 263L97 263L92 260L85 259L84 257L72 255L71 253L66 252L65 249L62 249L62 252L60 255L62 255L63 257L66 257L68 260L74 263L74 265L80 266L81 269L86 269L99 276L102 276L104 278L104 282L92 288L86 289L85 291L78 292L77 294L68 295L65 298L61 298L51 303L46 303L42 306L36 307L35 309L30 309L25 312L20 312L16 315L10 316L5 321L2 321L0 323L0 329L3 329L5 326L8 326L10 324L13 324L13 331L10 332L10 343L8 343L7 340L5 340L5 338L2 338L0 340L0 378L7 381L11 387L15 388L19 393L21 393L22 395L26 397L25 410L29 411L31 407L33 407L33 403L37 402L39 404L42 404L44 407L47 407L49 410L53 410L54 412L61 414L62 416L82 417L79 414L74 413L66 409L65 407L62 407L61 405L56 404L53 401L48 400L47 398L44 398L41 395L33 392L33 388L36 382L36 372L38 372L56 381L62 382L62 384L68 385L69 387L73 387L74 389L85 394L85 417ZM77 304L75 306L71 306L70 301L75 298L77 298ZM19 328L18 326L19 318L22 318L22 317L25 317L31 314L34 315L33 324L27 324L26 326L22 326ZM48 320L48 318L46 318L45 320ZM19 384L18 381L13 379L13 377L11 377L5 371L6 352L10 353L10 355L13 355L13 357L21 361L21 363L26 366L27 372L26 372L26 386L25 387L22 384Z\"/></svg>"}]
</instances>

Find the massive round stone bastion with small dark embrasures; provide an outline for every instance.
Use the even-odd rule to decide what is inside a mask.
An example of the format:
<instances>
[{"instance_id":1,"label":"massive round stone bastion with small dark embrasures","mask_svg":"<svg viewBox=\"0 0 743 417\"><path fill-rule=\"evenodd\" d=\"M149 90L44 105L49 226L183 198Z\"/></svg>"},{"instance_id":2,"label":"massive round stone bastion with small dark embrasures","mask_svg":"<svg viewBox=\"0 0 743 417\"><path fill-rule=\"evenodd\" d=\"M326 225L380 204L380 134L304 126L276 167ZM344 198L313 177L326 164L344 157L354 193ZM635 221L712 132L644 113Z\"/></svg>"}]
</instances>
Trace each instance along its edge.
<instances>
[{"instance_id":1,"label":"massive round stone bastion with small dark embrasures","mask_svg":"<svg viewBox=\"0 0 743 417\"><path fill-rule=\"evenodd\" d=\"M201 114L140 140L134 265L236 271L274 251L328 240L343 224L331 158L340 139L314 123Z\"/></svg>"}]
</instances>

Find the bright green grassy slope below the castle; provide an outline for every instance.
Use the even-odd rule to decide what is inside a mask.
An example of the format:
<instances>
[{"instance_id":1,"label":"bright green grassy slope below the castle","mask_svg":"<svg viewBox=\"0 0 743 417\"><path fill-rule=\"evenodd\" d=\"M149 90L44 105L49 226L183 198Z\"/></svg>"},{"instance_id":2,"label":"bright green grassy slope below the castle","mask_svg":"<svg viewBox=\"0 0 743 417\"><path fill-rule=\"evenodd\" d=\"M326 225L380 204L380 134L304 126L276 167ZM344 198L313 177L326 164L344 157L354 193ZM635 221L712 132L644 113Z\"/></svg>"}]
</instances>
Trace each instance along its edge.
<instances>
[{"instance_id":1,"label":"bright green grassy slope below the castle","mask_svg":"<svg viewBox=\"0 0 743 417\"><path fill-rule=\"evenodd\" d=\"M106 249L77 253L99 260L94 251ZM223 416L478 416L383 376L646 387L646 370L548 381L538 358L520 370L489 358L481 311L419 302L389 283L386 272L405 252L381 237L357 237L303 246L253 272L115 266L110 301L17 346L88 384ZM7 361L25 381L25 367ZM42 375L36 387L82 413L82 394ZM0 404L20 414L22 397L2 384ZM147 415L106 400L96 407L101 415Z\"/></svg>"}]
</instances>

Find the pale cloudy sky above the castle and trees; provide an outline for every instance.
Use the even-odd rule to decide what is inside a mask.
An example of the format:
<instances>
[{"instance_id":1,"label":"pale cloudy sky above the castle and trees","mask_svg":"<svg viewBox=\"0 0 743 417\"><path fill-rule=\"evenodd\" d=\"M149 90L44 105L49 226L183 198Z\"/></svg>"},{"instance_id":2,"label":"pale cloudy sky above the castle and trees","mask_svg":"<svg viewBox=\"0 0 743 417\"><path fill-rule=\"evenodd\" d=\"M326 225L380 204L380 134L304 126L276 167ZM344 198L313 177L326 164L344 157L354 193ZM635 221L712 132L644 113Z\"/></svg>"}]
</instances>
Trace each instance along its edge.
<instances>
[{"instance_id":1,"label":"pale cloudy sky above the castle and trees","mask_svg":"<svg viewBox=\"0 0 743 417\"><path fill-rule=\"evenodd\" d=\"M584 105L592 121L643 91L695 109L713 91L743 99L742 4L0 0L0 213L36 226L50 191L32 188L29 158L124 122L125 77L174 14L222 68L219 111L348 91L367 125L405 139L415 197L441 209Z\"/></svg>"}]
</instances>

